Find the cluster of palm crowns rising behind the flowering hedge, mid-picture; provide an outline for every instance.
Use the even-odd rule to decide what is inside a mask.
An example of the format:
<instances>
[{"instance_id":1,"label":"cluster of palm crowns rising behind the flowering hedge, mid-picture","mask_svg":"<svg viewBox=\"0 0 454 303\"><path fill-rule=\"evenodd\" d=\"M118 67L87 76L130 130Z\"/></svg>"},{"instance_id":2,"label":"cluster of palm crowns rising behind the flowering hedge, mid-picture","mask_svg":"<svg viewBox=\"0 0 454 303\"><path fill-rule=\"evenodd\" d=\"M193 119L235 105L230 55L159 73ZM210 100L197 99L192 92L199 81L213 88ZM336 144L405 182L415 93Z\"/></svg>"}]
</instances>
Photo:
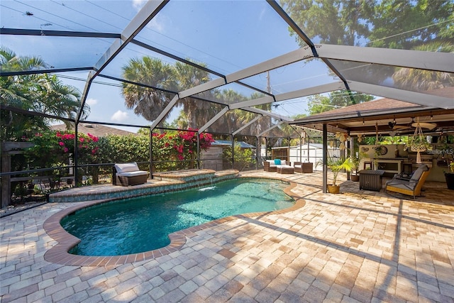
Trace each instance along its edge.
<instances>
[{"instance_id":1,"label":"cluster of palm crowns rising behind the flowering hedge, mid-picture","mask_svg":"<svg viewBox=\"0 0 454 303\"><path fill-rule=\"evenodd\" d=\"M202 63L198 64L202 67L204 66ZM148 121L155 121L157 116L160 115L165 106L175 96L169 91L181 92L184 89L211 81L209 72L202 69L182 62L168 65L160 59L152 57L131 60L128 65L123 67L123 77L129 81L129 83L123 84L122 91L126 106L129 109L134 109L135 114L143 116ZM149 87L143 87L135 83L143 83ZM155 89L152 87L155 87ZM222 104L234 104L239 101L260 97L263 96L258 93L253 93L248 97L233 89L212 89L194 97L180 99L176 104L181 109L177 119L170 123L162 121L160 126L182 129L199 128L223 109L224 106ZM270 104L262 104L256 107L270 110L271 106ZM169 116L170 113L164 119ZM228 111L210 127L210 131L215 133L226 133L229 130L235 131L254 119L255 116L256 114L238 109ZM270 121L260 121L251 125L250 128L265 130L270 126Z\"/></svg>"}]
</instances>

